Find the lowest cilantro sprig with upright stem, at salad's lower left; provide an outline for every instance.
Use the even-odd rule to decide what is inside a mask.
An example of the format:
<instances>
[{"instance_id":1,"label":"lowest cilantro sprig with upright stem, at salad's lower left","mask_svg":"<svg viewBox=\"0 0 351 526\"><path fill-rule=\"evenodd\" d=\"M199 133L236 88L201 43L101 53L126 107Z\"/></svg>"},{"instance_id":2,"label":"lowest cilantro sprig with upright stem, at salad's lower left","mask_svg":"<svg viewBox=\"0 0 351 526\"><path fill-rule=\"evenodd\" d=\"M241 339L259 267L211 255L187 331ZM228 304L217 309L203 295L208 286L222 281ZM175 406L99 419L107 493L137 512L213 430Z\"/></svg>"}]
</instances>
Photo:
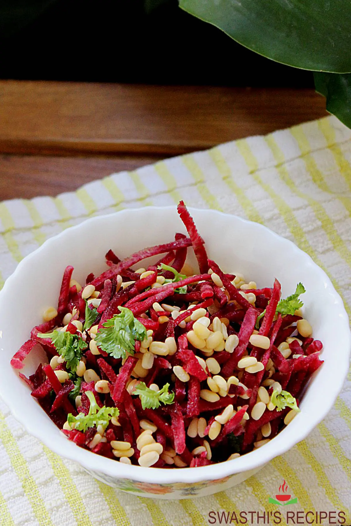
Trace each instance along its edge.
<instances>
[{"instance_id":1,"label":"lowest cilantro sprig with upright stem, at salad's lower left","mask_svg":"<svg viewBox=\"0 0 351 526\"><path fill-rule=\"evenodd\" d=\"M113 417L118 417L118 409L116 407L99 407L92 391L86 391L85 394L90 401L88 414L85 415L84 413L79 413L74 417L72 413L68 413L67 422L72 429L74 428L83 432L88 428L97 427L99 425L106 429L109 421Z\"/></svg>"}]
</instances>

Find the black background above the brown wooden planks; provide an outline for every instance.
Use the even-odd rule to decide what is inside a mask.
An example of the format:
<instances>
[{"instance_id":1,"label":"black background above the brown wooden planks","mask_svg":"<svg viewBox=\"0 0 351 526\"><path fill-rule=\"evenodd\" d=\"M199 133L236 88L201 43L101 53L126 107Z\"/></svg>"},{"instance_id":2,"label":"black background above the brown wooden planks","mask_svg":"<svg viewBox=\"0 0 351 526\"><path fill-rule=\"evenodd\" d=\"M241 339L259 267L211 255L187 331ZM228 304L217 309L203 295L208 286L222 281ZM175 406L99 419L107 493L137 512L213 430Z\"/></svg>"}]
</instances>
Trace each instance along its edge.
<instances>
[{"instance_id":1,"label":"black background above the brown wooden planks","mask_svg":"<svg viewBox=\"0 0 351 526\"><path fill-rule=\"evenodd\" d=\"M249 51L177 0L151 13L142 0L51 2L38 14L0 1L0 78L314 87L311 72Z\"/></svg>"}]
</instances>

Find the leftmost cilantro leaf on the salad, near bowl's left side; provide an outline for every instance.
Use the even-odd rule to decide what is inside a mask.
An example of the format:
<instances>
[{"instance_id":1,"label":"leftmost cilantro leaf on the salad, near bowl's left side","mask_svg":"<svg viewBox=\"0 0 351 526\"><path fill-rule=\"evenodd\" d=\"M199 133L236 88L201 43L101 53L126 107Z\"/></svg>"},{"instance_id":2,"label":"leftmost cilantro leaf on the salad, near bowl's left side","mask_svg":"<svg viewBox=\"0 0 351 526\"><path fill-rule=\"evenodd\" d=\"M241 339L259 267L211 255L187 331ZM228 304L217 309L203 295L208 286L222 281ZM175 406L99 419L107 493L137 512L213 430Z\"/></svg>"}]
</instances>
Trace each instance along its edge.
<instances>
[{"instance_id":1,"label":"leftmost cilantro leaf on the salad, near bowl's left side","mask_svg":"<svg viewBox=\"0 0 351 526\"><path fill-rule=\"evenodd\" d=\"M88 347L81 336L59 330L46 334L38 333L38 336L39 338L50 338L58 354L65 359L67 369L76 372L83 351Z\"/></svg>"}]
</instances>

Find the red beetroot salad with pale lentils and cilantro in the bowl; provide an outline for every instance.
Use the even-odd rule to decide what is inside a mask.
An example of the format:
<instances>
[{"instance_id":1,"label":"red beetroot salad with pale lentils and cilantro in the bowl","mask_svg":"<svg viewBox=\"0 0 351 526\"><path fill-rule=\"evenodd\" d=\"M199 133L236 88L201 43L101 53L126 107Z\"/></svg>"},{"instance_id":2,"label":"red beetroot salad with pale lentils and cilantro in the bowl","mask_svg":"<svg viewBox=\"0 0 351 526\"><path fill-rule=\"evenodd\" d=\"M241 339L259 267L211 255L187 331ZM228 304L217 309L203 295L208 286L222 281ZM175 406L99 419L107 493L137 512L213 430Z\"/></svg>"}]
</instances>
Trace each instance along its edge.
<instances>
[{"instance_id":1,"label":"red beetroot salad with pale lentils and cilantro in the bowl","mask_svg":"<svg viewBox=\"0 0 351 526\"><path fill-rule=\"evenodd\" d=\"M206 466L264 446L323 363L302 316L304 286L282 299L277 279L259 289L226 274L183 201L178 213L188 237L123 260L109 250L107 270L84 286L68 266L57 308L11 361L22 369L42 346L47 363L19 375L56 426L82 448L143 467ZM150 256L161 259L143 267Z\"/></svg>"}]
</instances>

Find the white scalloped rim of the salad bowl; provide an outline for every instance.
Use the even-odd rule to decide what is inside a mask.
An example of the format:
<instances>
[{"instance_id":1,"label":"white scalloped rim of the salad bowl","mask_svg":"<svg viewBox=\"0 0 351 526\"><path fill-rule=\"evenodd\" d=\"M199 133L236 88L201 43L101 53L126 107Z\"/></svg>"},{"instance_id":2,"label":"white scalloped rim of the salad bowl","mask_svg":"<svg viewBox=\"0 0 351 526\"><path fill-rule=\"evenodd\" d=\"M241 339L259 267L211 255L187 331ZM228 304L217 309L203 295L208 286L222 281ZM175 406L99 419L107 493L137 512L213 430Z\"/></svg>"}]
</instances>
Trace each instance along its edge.
<instances>
[{"instance_id":1,"label":"white scalloped rim of the salad bowl","mask_svg":"<svg viewBox=\"0 0 351 526\"><path fill-rule=\"evenodd\" d=\"M15 271L11 276L8 277L8 279L5 282L5 285L3 289L0 291L0 306L3 298L8 294L8 292L11 290L13 282L17 279L19 275L21 275L22 269L31 264L32 260L35 260L38 255L45 254L47 249L50 249L51 247L55 246L55 243L57 239L64 238L67 235L67 232L72 231L79 231L83 230L89 225L93 223L104 221L113 221L114 218L122 218L124 215L128 215L131 213L136 214L143 214L146 210L148 211L155 211L157 214L159 211L165 211L165 210L174 210L174 206L166 206L166 207L159 207L159 206L148 206L143 208L126 208L123 210L120 210L113 214L106 214L101 216L95 216L89 219L84 220L83 222L79 223L78 225L72 226L67 228L66 230L63 230L59 234L47 239L42 246L31 252L31 254L27 255L21 262L19 262L18 266L16 267ZM271 461L275 457L285 453L289 449L291 449L295 444L306 438L306 436L312 431L313 428L317 426L317 424L322 421L330 409L332 409L334 402L337 398L338 393L343 387L344 380L347 376L347 372L349 369L349 355L351 350L351 334L349 329L349 319L344 307L344 303L342 299L340 298L339 294L334 289L332 282L330 281L329 277L326 275L324 270L322 270L318 265L315 264L315 262L310 258L306 252L299 249L292 241L283 238L276 234L274 231L270 230L269 228L253 222L249 221L247 219L243 219L239 216L233 215L233 214L225 214L223 212L212 210L212 209L198 209L198 208L192 208L188 207L190 213L194 216L201 215L201 214L208 214L208 215L216 215L216 216L223 216L224 218L233 218L234 220L237 220L239 223L245 224L249 226L250 228L259 229L262 231L262 233L268 237L271 237L272 239L276 239L282 244L282 247L285 246L289 250L294 250L301 258L305 259L305 264L308 266L312 266L314 271L319 274L320 279L324 282L325 289L328 290L329 294L333 296L335 300L335 306L339 309L338 316L342 318L342 320L345 322L344 329L345 333L343 335L343 338L345 339L345 346L344 346L344 355L340 355L339 362L340 362L340 369L343 371L342 374L333 381L332 385L329 386L329 398L327 402L324 404L324 407L320 409L320 412L313 413L310 415L310 419L308 422L308 426L306 426L304 429L295 429L294 433L285 433L285 428L283 431L278 433L278 435L270 441L268 444L266 444L262 448L258 448L255 451L252 451L250 453L247 453L239 458L236 458L234 460L229 460L226 462L220 462L217 464L212 464L210 466L204 466L204 467L198 467L198 468L183 468L183 469L162 469L162 468L143 468L139 466L134 465L128 465L123 464L120 462L116 462L111 459L107 459L105 457L98 456L88 450L84 450L82 448L79 448L74 444L73 442L69 442L64 437L62 437L64 440L66 440L65 443L67 443L66 448L61 448L58 446L58 444L51 443L49 440L46 439L45 436L40 432L40 430L28 419L26 419L26 416L23 414L23 411L21 412L21 409L18 407L18 404L13 403L13 399L11 397L11 393L4 390L2 388L1 382L0 382L0 396L3 398L7 406L11 409L12 414L20 422L24 428L27 430L28 433L32 434L35 438L43 442L49 449L57 453L59 456L62 456L68 460L72 460L75 462L78 462L81 464L82 467L87 469L88 471L96 471L98 473L104 473L109 477L113 477L116 479L132 479L134 481L139 482L146 482L146 483L157 483L157 484L169 484L169 483L177 483L177 482L183 482L183 483L196 483L200 481L205 480L217 480L222 479L227 476L234 475L236 473L245 472L248 470L252 470L261 466L264 466L267 462ZM196 220L196 218L195 218ZM254 277L253 277L254 278ZM323 356L322 356L323 357ZM1 354L0 354L0 363L1 363ZM18 378L19 380L19 378ZM20 380L19 380L20 381ZM44 411L43 416L46 417ZM53 424L54 426L54 424ZM59 432L59 431L58 431ZM285 440L283 440L283 435ZM71 447L73 446L73 447Z\"/></svg>"}]
</instances>

